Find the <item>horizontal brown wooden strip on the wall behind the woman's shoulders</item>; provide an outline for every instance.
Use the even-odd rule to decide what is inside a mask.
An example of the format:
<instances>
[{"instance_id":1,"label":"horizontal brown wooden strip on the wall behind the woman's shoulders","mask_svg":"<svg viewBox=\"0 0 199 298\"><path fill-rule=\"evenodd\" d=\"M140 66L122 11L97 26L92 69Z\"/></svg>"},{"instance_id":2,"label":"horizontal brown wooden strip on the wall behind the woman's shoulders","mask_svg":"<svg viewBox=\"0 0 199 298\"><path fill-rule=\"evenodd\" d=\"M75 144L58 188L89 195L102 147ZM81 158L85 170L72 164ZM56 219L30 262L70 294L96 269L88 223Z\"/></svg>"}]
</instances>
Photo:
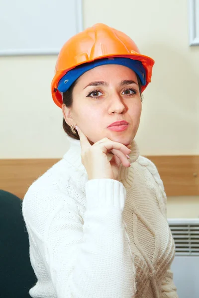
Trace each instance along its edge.
<instances>
[{"instance_id":1,"label":"horizontal brown wooden strip on the wall behind the woman's shoulders","mask_svg":"<svg viewBox=\"0 0 199 298\"><path fill-rule=\"evenodd\" d=\"M167 196L199 195L199 155L146 156L158 168ZM23 198L31 183L59 159L0 159L0 189Z\"/></svg>"}]
</instances>

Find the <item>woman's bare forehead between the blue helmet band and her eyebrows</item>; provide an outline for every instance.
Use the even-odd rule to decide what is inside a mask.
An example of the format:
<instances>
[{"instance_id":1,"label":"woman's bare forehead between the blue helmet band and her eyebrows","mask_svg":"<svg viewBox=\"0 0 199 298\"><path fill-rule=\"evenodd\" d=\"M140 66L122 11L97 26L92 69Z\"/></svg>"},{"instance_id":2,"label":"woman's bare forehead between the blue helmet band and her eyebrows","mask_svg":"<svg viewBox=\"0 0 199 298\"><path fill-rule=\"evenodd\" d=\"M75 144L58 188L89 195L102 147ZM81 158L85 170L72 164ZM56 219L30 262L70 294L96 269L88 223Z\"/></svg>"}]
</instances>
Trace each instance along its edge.
<instances>
[{"instance_id":1,"label":"woman's bare forehead between the blue helmet band and her eyebrows","mask_svg":"<svg viewBox=\"0 0 199 298\"><path fill-rule=\"evenodd\" d=\"M82 74L79 82L88 82L89 80L121 81L123 79L132 79L137 81L135 72L123 65L109 64L100 65L94 69Z\"/></svg>"}]
</instances>

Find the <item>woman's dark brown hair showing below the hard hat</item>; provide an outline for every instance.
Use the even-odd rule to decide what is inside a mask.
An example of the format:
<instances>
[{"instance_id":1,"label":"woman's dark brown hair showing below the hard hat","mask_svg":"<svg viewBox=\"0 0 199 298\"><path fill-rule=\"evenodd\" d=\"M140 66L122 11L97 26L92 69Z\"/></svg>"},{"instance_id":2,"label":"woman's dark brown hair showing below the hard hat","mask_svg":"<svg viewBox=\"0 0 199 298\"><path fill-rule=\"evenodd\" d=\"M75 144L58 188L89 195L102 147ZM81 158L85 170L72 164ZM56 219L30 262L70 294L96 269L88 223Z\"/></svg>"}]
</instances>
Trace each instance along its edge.
<instances>
[{"instance_id":1,"label":"woman's dark brown hair showing below the hard hat","mask_svg":"<svg viewBox=\"0 0 199 298\"><path fill-rule=\"evenodd\" d=\"M137 74L136 74L136 76L137 76L137 81L138 81L138 85L139 85L141 101L143 101L143 95L141 93L141 81ZM70 86L70 88L66 92L63 92L63 103L69 108L73 104L73 89L74 89L75 85L77 84L77 82L78 82L78 79ZM77 134L73 134L70 126L66 123L65 119L63 119L63 129L64 129L65 133L67 133L67 135L69 135L71 138L80 140L78 132L76 131Z\"/></svg>"}]
</instances>

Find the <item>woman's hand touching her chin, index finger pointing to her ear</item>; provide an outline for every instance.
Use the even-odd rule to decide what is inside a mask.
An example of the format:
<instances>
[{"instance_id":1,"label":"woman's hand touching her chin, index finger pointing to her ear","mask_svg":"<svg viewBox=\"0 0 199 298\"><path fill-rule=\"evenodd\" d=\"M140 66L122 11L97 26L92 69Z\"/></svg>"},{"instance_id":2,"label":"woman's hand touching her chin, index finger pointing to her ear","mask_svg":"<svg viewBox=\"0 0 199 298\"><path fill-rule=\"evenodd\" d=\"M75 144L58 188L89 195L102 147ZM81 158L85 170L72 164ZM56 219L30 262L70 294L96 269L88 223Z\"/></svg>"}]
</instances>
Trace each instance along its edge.
<instances>
[{"instance_id":1,"label":"woman's hand touching her chin, index finger pointing to her ear","mask_svg":"<svg viewBox=\"0 0 199 298\"><path fill-rule=\"evenodd\" d=\"M108 138L103 138L91 145L81 129L77 126L76 129L80 137L82 163L87 170L88 180L99 178L117 180L120 164L130 166L126 154L130 153L131 150L127 147L130 148L131 145L126 147ZM106 155L109 151L114 154L110 161Z\"/></svg>"}]
</instances>

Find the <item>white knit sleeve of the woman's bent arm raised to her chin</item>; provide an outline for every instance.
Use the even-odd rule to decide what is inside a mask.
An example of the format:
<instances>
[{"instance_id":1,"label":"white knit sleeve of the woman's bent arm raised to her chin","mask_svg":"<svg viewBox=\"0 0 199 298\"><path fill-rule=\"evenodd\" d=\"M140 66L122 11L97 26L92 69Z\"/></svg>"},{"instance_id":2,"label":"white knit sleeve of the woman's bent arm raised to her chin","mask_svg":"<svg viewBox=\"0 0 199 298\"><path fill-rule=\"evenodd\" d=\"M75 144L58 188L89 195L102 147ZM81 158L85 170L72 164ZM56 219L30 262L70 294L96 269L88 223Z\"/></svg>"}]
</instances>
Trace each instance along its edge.
<instances>
[{"instance_id":1,"label":"white knit sleeve of the woman's bent arm raised to her chin","mask_svg":"<svg viewBox=\"0 0 199 298\"><path fill-rule=\"evenodd\" d=\"M134 297L135 268L122 220L125 197L117 180L89 180L83 222L68 195L29 189L24 221L57 298Z\"/></svg>"}]
</instances>

